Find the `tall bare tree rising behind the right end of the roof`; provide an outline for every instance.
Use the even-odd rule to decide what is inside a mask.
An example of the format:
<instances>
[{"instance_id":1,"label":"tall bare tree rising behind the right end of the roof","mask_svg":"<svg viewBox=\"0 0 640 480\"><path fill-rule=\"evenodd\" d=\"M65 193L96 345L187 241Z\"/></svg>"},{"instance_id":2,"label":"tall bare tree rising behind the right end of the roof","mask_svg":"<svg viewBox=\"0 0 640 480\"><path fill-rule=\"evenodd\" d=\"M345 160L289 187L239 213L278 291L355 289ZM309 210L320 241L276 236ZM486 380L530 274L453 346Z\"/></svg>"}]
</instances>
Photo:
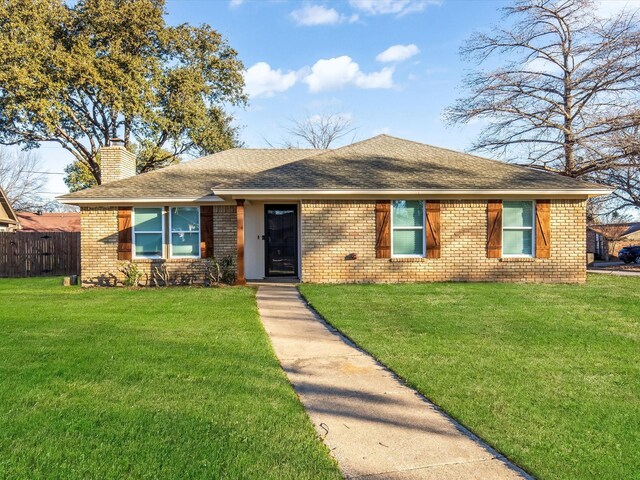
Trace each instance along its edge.
<instances>
[{"instance_id":1,"label":"tall bare tree rising behind the right end of the roof","mask_svg":"<svg viewBox=\"0 0 640 480\"><path fill-rule=\"evenodd\" d=\"M603 144L640 124L637 15L599 18L591 0L520 0L504 14L508 27L462 48L479 67L503 66L468 75L448 120L488 121L473 149L534 168L580 177L628 167L627 153Z\"/></svg>"}]
</instances>

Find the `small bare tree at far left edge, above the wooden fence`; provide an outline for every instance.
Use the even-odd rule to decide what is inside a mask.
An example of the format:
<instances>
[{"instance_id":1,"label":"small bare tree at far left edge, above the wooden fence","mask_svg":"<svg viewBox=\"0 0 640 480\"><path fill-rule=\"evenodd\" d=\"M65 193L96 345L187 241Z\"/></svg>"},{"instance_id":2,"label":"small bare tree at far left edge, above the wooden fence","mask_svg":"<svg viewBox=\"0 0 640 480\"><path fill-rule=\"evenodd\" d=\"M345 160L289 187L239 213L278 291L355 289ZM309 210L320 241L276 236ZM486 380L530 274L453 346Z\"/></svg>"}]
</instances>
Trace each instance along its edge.
<instances>
[{"instance_id":1,"label":"small bare tree at far left edge, above the wooden fence","mask_svg":"<svg viewBox=\"0 0 640 480\"><path fill-rule=\"evenodd\" d=\"M46 183L40 159L34 152L12 153L0 148L0 186L16 210L33 210L42 204Z\"/></svg>"}]
</instances>

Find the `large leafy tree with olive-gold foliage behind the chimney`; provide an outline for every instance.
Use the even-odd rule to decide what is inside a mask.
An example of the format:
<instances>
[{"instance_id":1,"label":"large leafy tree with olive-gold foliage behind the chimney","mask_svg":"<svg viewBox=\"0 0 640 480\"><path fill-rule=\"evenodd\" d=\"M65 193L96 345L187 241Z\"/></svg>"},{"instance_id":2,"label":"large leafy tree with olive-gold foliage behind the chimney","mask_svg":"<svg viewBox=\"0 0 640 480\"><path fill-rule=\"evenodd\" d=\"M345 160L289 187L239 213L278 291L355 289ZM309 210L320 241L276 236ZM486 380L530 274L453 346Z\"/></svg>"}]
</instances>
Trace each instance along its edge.
<instances>
[{"instance_id":1,"label":"large leafy tree with olive-gold foliage behind the chimney","mask_svg":"<svg viewBox=\"0 0 640 480\"><path fill-rule=\"evenodd\" d=\"M57 142L78 187L100 183L115 137L144 152L142 171L234 146L225 109L247 100L236 51L164 13L163 0L0 0L0 144Z\"/></svg>"}]
</instances>

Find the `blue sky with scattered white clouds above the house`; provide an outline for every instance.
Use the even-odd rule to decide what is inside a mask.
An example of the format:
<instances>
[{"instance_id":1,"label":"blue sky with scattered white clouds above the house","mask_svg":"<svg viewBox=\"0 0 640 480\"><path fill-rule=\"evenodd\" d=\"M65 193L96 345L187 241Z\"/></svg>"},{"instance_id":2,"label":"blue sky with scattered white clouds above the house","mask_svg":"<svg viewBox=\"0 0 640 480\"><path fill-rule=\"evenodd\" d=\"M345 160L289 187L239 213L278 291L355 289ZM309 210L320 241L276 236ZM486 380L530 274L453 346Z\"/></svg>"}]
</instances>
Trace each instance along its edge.
<instances>
[{"instance_id":1,"label":"blue sky with scattered white clouds above the house","mask_svg":"<svg viewBox=\"0 0 640 480\"><path fill-rule=\"evenodd\" d=\"M603 11L627 0L604 0ZM292 118L337 113L355 139L389 133L457 150L479 125L447 127L443 110L460 95L470 65L458 49L474 30L499 21L491 0L167 0L170 24L208 23L238 51L250 103L234 111L247 147L277 145ZM351 138L349 138L351 140ZM45 170L71 155L40 149ZM64 193L49 175L47 196Z\"/></svg>"}]
</instances>

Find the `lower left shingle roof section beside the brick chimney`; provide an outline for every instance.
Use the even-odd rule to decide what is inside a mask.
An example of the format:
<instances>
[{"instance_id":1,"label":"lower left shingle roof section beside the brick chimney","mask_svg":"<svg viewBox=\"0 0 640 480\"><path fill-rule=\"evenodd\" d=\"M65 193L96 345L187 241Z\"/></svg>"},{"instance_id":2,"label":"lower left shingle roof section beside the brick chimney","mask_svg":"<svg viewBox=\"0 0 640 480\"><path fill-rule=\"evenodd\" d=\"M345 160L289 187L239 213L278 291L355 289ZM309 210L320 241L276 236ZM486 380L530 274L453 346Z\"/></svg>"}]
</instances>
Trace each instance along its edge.
<instances>
[{"instance_id":1,"label":"lower left shingle roof section beside the brick chimney","mask_svg":"<svg viewBox=\"0 0 640 480\"><path fill-rule=\"evenodd\" d=\"M201 198L212 196L211 187L216 183L295 162L304 157L317 155L320 151L232 148L58 198Z\"/></svg>"}]
</instances>

